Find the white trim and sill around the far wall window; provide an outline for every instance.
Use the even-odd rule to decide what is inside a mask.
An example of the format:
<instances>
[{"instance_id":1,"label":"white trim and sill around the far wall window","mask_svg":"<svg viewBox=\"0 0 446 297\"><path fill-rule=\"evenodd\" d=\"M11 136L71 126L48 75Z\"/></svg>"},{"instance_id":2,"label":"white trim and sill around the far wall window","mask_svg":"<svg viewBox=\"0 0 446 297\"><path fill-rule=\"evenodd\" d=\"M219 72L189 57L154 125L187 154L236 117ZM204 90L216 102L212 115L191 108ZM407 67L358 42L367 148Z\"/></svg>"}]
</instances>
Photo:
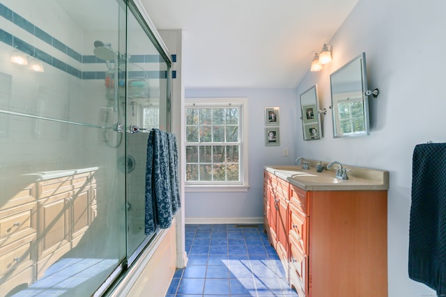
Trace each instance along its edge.
<instances>
[{"instance_id":1,"label":"white trim and sill around the far wall window","mask_svg":"<svg viewBox=\"0 0 446 297\"><path fill-rule=\"evenodd\" d=\"M185 108L187 107L228 107L236 106L240 108L240 182L217 183L187 183L186 192L246 192L248 184L248 99L246 97L206 97L206 98L185 98ZM184 118L183 127L186 127ZM183 168L186 168L186 158L183 161ZM185 176L185 175L184 175Z\"/></svg>"}]
</instances>

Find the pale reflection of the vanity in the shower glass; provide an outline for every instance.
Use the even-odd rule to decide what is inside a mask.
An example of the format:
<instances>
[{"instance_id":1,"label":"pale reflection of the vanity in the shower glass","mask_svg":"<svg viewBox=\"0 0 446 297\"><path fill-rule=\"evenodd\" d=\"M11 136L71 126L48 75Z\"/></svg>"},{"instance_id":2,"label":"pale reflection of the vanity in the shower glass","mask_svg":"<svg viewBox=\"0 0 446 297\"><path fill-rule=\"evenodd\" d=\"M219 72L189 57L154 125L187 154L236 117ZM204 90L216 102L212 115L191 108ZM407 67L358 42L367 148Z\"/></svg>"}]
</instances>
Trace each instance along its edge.
<instances>
[{"instance_id":1,"label":"pale reflection of the vanity in the shower glass","mask_svg":"<svg viewBox=\"0 0 446 297\"><path fill-rule=\"evenodd\" d=\"M78 245L96 216L96 170L33 172L21 175L26 184L0 184L3 293L32 284Z\"/></svg>"}]
</instances>

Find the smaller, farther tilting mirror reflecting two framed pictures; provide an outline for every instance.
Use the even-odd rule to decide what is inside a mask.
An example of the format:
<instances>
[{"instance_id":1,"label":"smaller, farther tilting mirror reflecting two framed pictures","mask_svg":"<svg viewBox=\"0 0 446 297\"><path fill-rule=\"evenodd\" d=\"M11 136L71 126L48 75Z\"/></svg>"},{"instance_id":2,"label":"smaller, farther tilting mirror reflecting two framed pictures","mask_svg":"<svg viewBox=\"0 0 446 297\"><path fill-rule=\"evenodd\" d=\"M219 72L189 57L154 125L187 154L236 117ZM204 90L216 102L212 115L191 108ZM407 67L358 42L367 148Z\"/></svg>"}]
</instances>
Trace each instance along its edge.
<instances>
[{"instance_id":1,"label":"smaller, farther tilting mirror reflecting two framed pictures","mask_svg":"<svg viewBox=\"0 0 446 297\"><path fill-rule=\"evenodd\" d=\"M304 141L321 139L321 119L318 113L319 100L316 85L300 95L300 110Z\"/></svg>"}]
</instances>

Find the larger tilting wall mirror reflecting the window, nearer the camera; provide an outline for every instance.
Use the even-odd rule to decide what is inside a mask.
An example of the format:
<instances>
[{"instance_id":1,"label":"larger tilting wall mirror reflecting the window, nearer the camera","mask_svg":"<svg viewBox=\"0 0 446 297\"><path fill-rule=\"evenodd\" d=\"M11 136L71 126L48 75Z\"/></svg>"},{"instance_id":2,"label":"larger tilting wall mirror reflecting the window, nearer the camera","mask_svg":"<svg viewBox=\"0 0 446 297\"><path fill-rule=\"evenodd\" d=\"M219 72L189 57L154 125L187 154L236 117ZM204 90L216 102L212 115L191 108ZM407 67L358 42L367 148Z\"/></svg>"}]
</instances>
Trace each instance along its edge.
<instances>
[{"instance_id":1,"label":"larger tilting wall mirror reflecting the window, nearer the camera","mask_svg":"<svg viewBox=\"0 0 446 297\"><path fill-rule=\"evenodd\" d=\"M365 53L330 74L333 137L369 135Z\"/></svg>"}]
</instances>

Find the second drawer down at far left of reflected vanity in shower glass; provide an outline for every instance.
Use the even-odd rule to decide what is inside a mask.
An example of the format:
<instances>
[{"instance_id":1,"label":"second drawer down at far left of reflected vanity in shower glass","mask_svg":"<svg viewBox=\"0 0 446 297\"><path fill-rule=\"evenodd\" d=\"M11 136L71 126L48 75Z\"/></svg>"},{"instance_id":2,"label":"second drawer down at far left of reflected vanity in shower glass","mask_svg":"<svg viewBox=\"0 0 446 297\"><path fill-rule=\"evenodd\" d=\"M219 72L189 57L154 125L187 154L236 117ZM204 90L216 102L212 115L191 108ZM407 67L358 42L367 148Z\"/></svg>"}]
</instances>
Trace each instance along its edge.
<instances>
[{"instance_id":1,"label":"second drawer down at far left of reflected vanity in shower glass","mask_svg":"<svg viewBox=\"0 0 446 297\"><path fill-rule=\"evenodd\" d=\"M0 243L12 243L36 232L36 202L0 211Z\"/></svg>"}]
</instances>

